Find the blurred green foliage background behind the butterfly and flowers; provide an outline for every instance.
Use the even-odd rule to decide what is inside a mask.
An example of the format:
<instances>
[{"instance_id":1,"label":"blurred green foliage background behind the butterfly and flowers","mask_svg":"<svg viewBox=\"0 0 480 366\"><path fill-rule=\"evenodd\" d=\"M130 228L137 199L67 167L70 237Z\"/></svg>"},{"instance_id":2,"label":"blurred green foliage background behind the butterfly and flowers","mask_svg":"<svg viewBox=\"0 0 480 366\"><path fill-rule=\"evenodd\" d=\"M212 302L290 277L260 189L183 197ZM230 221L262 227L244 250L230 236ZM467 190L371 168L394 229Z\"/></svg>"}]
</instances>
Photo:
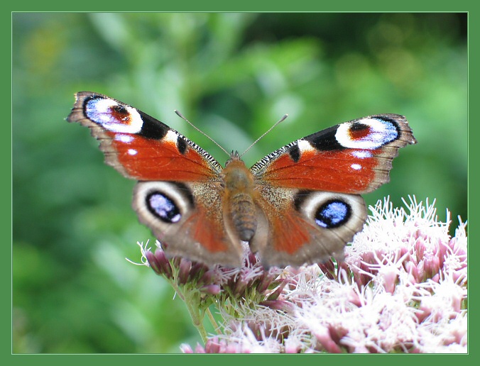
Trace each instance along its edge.
<instances>
[{"instance_id":1,"label":"blurred green foliage background behind the butterfly and flowers","mask_svg":"<svg viewBox=\"0 0 480 366\"><path fill-rule=\"evenodd\" d=\"M365 196L437 199L467 219L467 16L455 13L13 13L13 352L177 353L200 338L173 289L137 267L153 235L134 182L69 124L75 91L107 94L219 162L373 113L418 145Z\"/></svg>"}]
</instances>

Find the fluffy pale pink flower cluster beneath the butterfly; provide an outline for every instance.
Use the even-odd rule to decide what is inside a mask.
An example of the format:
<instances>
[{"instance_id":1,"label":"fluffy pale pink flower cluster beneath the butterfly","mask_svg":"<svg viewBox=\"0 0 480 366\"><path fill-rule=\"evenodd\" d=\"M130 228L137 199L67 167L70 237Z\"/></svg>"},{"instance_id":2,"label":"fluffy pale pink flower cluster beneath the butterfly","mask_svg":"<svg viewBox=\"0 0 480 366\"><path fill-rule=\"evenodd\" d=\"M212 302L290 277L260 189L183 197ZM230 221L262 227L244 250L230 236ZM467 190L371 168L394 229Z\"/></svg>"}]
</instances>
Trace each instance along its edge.
<instances>
[{"instance_id":1,"label":"fluffy pale pink flower cluster beneath the butterfly","mask_svg":"<svg viewBox=\"0 0 480 366\"><path fill-rule=\"evenodd\" d=\"M248 247L239 269L144 253L158 274L209 296L222 317L221 333L182 352L466 353L466 223L451 238L435 202L404 203L370 207L344 262L265 272Z\"/></svg>"}]
</instances>

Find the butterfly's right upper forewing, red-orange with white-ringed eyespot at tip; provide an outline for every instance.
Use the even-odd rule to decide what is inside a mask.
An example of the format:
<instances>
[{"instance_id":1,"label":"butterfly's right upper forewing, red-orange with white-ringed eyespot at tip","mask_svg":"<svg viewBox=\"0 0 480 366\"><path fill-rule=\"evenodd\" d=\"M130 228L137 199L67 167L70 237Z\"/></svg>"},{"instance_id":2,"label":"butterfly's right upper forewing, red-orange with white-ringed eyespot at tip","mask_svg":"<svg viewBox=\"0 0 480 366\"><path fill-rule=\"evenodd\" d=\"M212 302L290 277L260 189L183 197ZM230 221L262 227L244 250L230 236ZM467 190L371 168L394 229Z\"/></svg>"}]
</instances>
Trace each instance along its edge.
<instances>
[{"instance_id":1,"label":"butterfly's right upper forewing, red-orange with white-ringed eyespot at tip","mask_svg":"<svg viewBox=\"0 0 480 366\"><path fill-rule=\"evenodd\" d=\"M398 149L414 143L405 117L368 116L296 140L251 171L259 184L362 194L388 182Z\"/></svg>"}]
</instances>

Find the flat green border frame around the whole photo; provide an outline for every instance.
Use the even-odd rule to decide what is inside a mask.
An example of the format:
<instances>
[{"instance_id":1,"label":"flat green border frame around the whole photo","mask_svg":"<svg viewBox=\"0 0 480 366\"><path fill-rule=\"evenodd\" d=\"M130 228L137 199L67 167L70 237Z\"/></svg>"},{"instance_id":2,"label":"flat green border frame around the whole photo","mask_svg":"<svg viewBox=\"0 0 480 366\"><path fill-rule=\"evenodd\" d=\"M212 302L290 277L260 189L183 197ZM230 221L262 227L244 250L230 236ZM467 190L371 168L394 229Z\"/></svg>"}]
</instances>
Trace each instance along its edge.
<instances>
[{"instance_id":1,"label":"flat green border frame around the whole photo","mask_svg":"<svg viewBox=\"0 0 480 366\"><path fill-rule=\"evenodd\" d=\"M430 4L428 4L430 3ZM98 1L41 1L41 2L34 2L31 0L23 1L22 4L6 4L4 6L6 9L2 11L2 22L1 26L4 28L4 31L1 33L2 38L7 38L10 35L10 43L11 43L11 13L16 11L258 11L258 12L314 12L314 11L329 11L329 12L383 12L383 11L408 11L408 12L468 12L468 27L469 27L469 65L480 65L479 60L479 43L477 40L477 35L479 34L479 11L476 11L474 8L474 4L471 4L470 1L455 1L454 4L439 4L437 1L428 1L422 2L419 1L402 1L401 3L389 3L386 4L385 1L369 1L366 4L364 1L344 1L344 3L339 4L338 2L317 2L313 3L312 1L295 1L295 2L288 2L285 4L279 4L278 2L269 1L259 3L258 1L242 1L241 4L239 3L226 3L224 1L212 1L212 0L204 0L199 2L192 2L191 4L179 4L178 1L169 1L168 3L163 2L160 4L159 2L151 2L151 1L141 1L140 3L136 1L135 3L131 2L120 2L120 1L103 1L102 4L99 4ZM9 27L9 29L7 29ZM4 40L4 45L9 44L9 40ZM4 72L5 74L4 85L5 89L6 86L10 85L9 91L4 91L6 95L9 95L10 98L4 98L4 104L6 101L11 101L11 57L9 57L7 52L4 52L2 55L2 63L4 65ZM6 74L10 74L10 82L8 82ZM477 101L479 96L479 83L477 82L479 71L478 67L469 67L469 101ZM11 103L10 108L6 107L6 110L11 111ZM476 116L478 113L477 109L479 109L478 103L469 104L469 116ZM470 121L470 118L469 118ZM468 148L469 148L469 157L473 156L476 157L479 155L479 143L476 143L476 138L479 136L479 123L476 123L475 120L472 120L473 123L469 123L469 135L468 135ZM1 138L4 140L1 144L2 147L2 167L4 170L9 170L9 174L4 174L4 179L1 179L3 189L2 192L4 196L8 195L8 198L4 200L5 204L3 205L4 209L4 219L1 220L1 226L4 228L2 232L9 233L9 240L7 243L10 243L9 250L4 249L6 252L3 255L3 260L6 262L9 261L10 265L2 266L2 272L5 272L1 275L2 282L9 282L4 283L2 288L6 292L8 288L11 289L11 192L12 192L12 185L11 185L11 123L6 123L8 128L7 133L3 133ZM469 159L469 162L472 160ZM469 165L469 168L471 165ZM478 179L478 172L476 169L469 169L469 181L468 181L468 201L469 201L469 211L468 211L468 219L469 223L472 221L474 222L474 228L472 230L471 224L469 224L469 243L475 243L475 239L477 237L476 233L476 216L477 212L475 209L470 209L472 204L477 202L479 199L479 191L477 189L470 189L470 187L477 187L479 184ZM9 177L10 179L6 179ZM474 206L473 206L474 207ZM3 210L2 210L3 211ZM472 236L473 235L473 236ZM473 238L473 240L472 240ZM5 248L8 248L7 246ZM469 257L476 258L479 255L479 249L477 245L469 245ZM9 271L9 273L7 273ZM476 266L470 266L469 272L472 272L471 278L474 279L471 282L469 288L469 304L470 308L476 306L477 297L478 297L478 282L475 279L478 277L476 276L477 272ZM10 291L11 294L11 291ZM7 301L9 304L7 304ZM8 365L55 365L55 364L63 364L64 362L71 362L76 364L77 362L80 364L84 364L86 362L92 363L99 363L103 364L104 362L117 362L119 364L130 364L135 357L135 360L138 360L138 357L142 357L142 362L178 362L178 357L192 357L189 360L185 359L185 361L195 362L195 364L207 364L211 362L229 362L234 364L244 363L248 358L249 362L280 362L285 363L287 362L302 362L305 365L317 365L319 362L360 362L361 364L383 364L386 362L386 359L383 358L385 356L375 356L375 355L358 355L352 356L355 357L354 359L346 360L344 357L348 357L347 355L12 355L11 354L11 296L4 296L3 300L1 301L2 308L4 309L3 314L4 316L1 317L2 319L2 326L1 329L4 330L4 340L3 347L4 350L1 353L2 358L4 358L5 362L8 362ZM403 357L415 357L415 360L409 358L408 360L400 359L397 356L394 360L389 358L388 362L436 362L439 364L444 363L451 363L451 362L469 362L473 357L476 356L476 339L478 334L478 327L477 325L477 318L476 314L470 314L469 316L469 354L467 355L404 355ZM108 357L108 358L105 358ZM293 358L295 357L295 358ZM301 360L298 359L301 357ZM322 357L322 358L320 358ZM327 358L325 358L327 357ZM334 359L333 357L342 357L341 360ZM393 356L395 357L395 356ZM418 357L422 357L420 360ZM427 357L426 359L423 357ZM168 365L167 363L167 365Z\"/></svg>"}]
</instances>

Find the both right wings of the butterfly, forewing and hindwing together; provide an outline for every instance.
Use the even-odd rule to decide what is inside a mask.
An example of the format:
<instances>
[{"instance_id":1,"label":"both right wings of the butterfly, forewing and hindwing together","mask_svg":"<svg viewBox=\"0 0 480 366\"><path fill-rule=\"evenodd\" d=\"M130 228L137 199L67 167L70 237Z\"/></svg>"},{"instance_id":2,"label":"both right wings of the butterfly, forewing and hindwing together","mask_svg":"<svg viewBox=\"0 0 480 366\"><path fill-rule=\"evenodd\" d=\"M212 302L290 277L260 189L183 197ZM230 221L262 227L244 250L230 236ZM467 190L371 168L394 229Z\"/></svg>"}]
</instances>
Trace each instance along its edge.
<instances>
[{"instance_id":1,"label":"both right wings of the butterfly, forewing and hindwing together","mask_svg":"<svg viewBox=\"0 0 480 366\"><path fill-rule=\"evenodd\" d=\"M264 265L342 259L366 219L359 194L388 182L398 149L416 143L403 116L346 122L296 140L251 167L261 220L251 247Z\"/></svg>"}]
</instances>

